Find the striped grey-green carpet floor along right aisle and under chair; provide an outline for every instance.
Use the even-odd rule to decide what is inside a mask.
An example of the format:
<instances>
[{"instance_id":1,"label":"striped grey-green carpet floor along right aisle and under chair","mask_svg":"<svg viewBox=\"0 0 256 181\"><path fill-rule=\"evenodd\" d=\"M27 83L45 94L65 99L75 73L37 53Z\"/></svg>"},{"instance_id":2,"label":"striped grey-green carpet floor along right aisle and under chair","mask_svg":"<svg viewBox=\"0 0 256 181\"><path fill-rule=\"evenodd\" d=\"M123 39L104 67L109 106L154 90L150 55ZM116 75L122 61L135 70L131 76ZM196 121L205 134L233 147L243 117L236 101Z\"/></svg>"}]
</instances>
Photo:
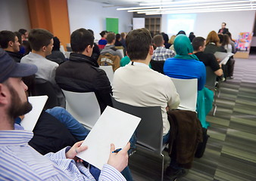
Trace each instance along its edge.
<instances>
[{"instance_id":1,"label":"striped grey-green carpet floor along right aisle and under chair","mask_svg":"<svg viewBox=\"0 0 256 181\"><path fill-rule=\"evenodd\" d=\"M217 112L207 121L202 158L179 181L256 180L256 56L236 59L234 79L220 84ZM165 167L170 159L164 152ZM135 181L161 180L161 157L138 150L129 160ZM167 179L166 179L167 180Z\"/></svg>"}]
</instances>

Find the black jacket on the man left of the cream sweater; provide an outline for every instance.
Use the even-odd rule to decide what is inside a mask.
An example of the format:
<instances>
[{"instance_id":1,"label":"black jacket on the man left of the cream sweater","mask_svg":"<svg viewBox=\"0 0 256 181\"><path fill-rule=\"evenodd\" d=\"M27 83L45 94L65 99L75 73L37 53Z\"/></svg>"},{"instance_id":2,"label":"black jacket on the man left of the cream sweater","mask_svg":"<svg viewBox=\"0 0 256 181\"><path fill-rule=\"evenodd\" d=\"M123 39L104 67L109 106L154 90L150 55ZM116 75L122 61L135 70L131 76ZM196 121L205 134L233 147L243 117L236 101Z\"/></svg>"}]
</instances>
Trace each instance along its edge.
<instances>
[{"instance_id":1,"label":"black jacket on the man left of the cream sweater","mask_svg":"<svg viewBox=\"0 0 256 181\"><path fill-rule=\"evenodd\" d=\"M73 92L95 92L101 112L112 106L112 88L104 70L98 63L83 54L70 54L70 60L61 63L55 80L61 89Z\"/></svg>"}]
</instances>

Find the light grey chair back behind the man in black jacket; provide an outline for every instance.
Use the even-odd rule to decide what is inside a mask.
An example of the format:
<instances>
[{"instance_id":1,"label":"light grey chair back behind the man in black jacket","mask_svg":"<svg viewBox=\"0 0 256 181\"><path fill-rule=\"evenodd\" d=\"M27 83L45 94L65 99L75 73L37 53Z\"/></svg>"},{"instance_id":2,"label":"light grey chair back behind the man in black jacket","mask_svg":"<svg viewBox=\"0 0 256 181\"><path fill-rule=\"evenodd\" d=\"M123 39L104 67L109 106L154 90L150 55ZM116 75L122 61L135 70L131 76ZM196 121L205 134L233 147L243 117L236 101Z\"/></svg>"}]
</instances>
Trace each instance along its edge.
<instances>
[{"instance_id":1,"label":"light grey chair back behind the man in black jacket","mask_svg":"<svg viewBox=\"0 0 256 181\"><path fill-rule=\"evenodd\" d=\"M101 115L101 109L94 92L77 93L63 90L66 97L66 109L77 121L89 130Z\"/></svg>"}]
</instances>

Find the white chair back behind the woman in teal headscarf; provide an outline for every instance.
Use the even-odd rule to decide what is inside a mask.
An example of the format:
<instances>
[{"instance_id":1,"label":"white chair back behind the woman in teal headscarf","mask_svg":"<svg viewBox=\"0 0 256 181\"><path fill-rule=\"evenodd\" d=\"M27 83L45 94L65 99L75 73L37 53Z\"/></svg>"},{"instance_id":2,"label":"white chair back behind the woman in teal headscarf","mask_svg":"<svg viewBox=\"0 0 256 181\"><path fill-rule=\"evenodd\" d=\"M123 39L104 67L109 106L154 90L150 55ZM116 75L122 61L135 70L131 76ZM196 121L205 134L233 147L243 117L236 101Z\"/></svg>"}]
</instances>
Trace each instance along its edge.
<instances>
[{"instance_id":1,"label":"white chair back behind the woman in teal headscarf","mask_svg":"<svg viewBox=\"0 0 256 181\"><path fill-rule=\"evenodd\" d=\"M170 78L180 95L180 106L177 109L195 112L198 97L198 79Z\"/></svg>"}]
</instances>

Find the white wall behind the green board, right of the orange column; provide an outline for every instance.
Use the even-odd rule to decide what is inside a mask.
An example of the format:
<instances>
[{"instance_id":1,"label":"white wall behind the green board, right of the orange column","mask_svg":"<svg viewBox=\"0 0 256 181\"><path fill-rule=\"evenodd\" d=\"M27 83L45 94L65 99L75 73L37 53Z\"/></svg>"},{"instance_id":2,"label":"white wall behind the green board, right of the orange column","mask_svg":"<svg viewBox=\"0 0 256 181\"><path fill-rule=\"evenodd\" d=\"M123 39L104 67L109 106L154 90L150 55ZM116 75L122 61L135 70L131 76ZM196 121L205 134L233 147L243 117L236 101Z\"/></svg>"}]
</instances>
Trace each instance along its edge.
<instances>
[{"instance_id":1,"label":"white wall behind the green board, right of the orange column","mask_svg":"<svg viewBox=\"0 0 256 181\"><path fill-rule=\"evenodd\" d=\"M99 33L106 29L106 17L119 18L119 32L130 32L132 29L132 13L117 11L116 8L103 8L101 3L86 0L67 0L67 6L70 32L79 28L92 29L95 39L99 39Z\"/></svg>"}]
</instances>

